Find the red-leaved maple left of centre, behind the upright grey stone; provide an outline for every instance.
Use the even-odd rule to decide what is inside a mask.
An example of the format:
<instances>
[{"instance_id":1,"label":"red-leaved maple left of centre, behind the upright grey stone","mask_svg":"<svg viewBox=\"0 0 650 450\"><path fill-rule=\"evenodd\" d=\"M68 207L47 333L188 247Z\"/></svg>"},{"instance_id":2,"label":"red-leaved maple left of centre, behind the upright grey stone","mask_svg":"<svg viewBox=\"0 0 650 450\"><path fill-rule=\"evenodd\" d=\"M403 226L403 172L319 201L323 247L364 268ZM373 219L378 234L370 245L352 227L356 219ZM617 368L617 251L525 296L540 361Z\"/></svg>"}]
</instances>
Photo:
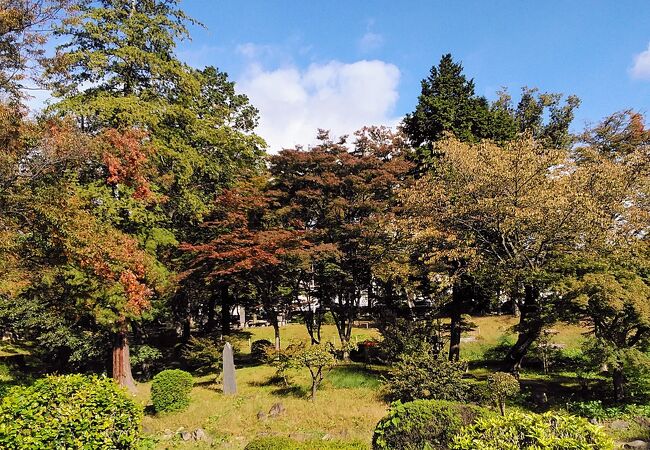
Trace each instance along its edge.
<instances>
[{"instance_id":1,"label":"red-leaved maple left of centre, behind the upright grey stone","mask_svg":"<svg viewBox=\"0 0 650 450\"><path fill-rule=\"evenodd\" d=\"M221 290L251 288L273 325L279 348L278 315L286 306L283 299L290 300L284 293L292 284L292 266L305 261L309 243L303 230L278 221L266 184L264 179L240 183L217 198L213 215L202 225L209 240L181 245L192 255L190 269L182 277L198 275ZM227 314L224 307L222 314Z\"/></svg>"}]
</instances>

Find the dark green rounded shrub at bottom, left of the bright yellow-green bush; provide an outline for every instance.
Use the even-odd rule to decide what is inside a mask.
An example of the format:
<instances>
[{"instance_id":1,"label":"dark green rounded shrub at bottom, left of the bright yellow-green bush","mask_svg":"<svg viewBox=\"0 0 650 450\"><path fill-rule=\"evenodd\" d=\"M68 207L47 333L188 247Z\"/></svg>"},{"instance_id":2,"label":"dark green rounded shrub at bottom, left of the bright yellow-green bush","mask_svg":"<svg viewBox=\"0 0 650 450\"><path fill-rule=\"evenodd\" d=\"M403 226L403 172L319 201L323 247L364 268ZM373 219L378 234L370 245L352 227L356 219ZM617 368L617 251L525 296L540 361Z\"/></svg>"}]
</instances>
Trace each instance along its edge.
<instances>
[{"instance_id":1,"label":"dark green rounded shrub at bottom, left of the bright yellow-green bush","mask_svg":"<svg viewBox=\"0 0 650 450\"><path fill-rule=\"evenodd\" d=\"M460 429L489 413L478 406L441 400L396 402L375 428L375 450L447 449Z\"/></svg>"}]
</instances>

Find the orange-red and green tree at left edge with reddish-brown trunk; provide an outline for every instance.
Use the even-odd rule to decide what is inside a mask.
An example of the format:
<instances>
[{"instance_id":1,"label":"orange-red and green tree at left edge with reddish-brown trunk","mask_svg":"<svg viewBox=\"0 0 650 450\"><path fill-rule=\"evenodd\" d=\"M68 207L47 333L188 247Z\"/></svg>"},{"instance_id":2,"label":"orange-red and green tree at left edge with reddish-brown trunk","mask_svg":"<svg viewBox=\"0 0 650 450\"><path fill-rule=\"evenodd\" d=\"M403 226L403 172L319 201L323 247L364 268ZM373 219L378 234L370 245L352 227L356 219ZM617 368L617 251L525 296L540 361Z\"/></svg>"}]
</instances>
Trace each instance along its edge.
<instances>
[{"instance_id":1,"label":"orange-red and green tree at left edge with reddish-brown trunk","mask_svg":"<svg viewBox=\"0 0 650 450\"><path fill-rule=\"evenodd\" d=\"M133 201L147 201L144 174L121 160L146 154L142 133L88 136L66 122L34 123L4 105L1 112L3 326L39 343L58 370L93 367L84 349L111 333L114 377L133 388L126 331L164 288L161 270L135 238L95 214L79 180L103 173L109 183L129 164Z\"/></svg>"}]
</instances>

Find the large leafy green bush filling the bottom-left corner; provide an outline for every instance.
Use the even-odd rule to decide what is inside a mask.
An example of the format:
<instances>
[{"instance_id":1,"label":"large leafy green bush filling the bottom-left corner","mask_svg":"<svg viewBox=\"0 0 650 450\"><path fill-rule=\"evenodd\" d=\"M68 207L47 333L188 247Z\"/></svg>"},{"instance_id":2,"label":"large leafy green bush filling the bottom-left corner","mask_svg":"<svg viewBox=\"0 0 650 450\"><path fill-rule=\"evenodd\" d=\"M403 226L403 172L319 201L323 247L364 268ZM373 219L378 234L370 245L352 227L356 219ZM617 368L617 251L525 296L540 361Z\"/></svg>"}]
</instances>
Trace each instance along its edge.
<instances>
[{"instance_id":1,"label":"large leafy green bush filling the bottom-left corner","mask_svg":"<svg viewBox=\"0 0 650 450\"><path fill-rule=\"evenodd\" d=\"M108 378L49 376L2 399L0 447L137 448L141 420L142 408Z\"/></svg>"}]
</instances>

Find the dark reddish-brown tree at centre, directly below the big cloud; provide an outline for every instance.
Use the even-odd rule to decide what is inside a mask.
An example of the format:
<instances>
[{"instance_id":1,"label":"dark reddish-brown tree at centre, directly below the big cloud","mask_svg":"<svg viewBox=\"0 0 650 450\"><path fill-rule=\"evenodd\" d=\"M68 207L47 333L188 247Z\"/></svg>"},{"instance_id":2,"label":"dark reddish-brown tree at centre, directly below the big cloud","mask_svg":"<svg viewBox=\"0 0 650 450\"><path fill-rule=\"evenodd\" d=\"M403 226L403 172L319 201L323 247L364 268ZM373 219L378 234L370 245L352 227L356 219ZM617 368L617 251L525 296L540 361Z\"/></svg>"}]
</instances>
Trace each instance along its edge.
<instances>
[{"instance_id":1,"label":"dark reddish-brown tree at centre, directly below the big cloud","mask_svg":"<svg viewBox=\"0 0 650 450\"><path fill-rule=\"evenodd\" d=\"M311 242L314 297L329 309L343 344L362 295L372 302L373 245L380 216L412 169L401 134L364 128L349 148L321 131L309 149L285 149L271 157L273 187L285 220L297 221Z\"/></svg>"}]
</instances>

